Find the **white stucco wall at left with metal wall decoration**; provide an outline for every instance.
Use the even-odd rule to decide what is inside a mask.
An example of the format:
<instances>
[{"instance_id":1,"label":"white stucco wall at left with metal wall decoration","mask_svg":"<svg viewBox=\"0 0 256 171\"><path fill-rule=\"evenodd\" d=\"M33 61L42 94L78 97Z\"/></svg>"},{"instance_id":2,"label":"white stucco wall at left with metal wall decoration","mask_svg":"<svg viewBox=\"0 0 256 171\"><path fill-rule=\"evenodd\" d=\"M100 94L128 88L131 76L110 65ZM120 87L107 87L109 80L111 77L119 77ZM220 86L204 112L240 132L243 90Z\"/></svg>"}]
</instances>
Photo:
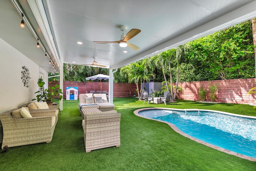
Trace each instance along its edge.
<instances>
[{"instance_id":1,"label":"white stucco wall at left with metal wall decoration","mask_svg":"<svg viewBox=\"0 0 256 171\"><path fill-rule=\"evenodd\" d=\"M26 66L30 72L30 87L25 87L21 72ZM36 97L40 72L48 85L48 73L0 38L0 113L17 108Z\"/></svg>"}]
</instances>

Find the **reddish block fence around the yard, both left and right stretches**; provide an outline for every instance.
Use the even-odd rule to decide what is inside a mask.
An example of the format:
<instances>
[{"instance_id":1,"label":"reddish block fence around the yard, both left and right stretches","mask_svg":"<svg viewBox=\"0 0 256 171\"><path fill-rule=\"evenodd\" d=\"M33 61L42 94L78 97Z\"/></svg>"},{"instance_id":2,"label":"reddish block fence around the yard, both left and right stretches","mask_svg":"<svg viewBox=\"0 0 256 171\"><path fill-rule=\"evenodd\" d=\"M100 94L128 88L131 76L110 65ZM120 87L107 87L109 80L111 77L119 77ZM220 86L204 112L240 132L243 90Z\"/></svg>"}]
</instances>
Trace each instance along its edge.
<instances>
[{"instance_id":1,"label":"reddish block fence around the yard, both left and right stretches","mask_svg":"<svg viewBox=\"0 0 256 171\"><path fill-rule=\"evenodd\" d=\"M48 86L59 84L59 82L49 82ZM208 97L209 85L219 84L218 91L216 93L216 101L223 103L239 103L249 104L253 103L256 99L256 95L247 95L248 91L252 87L256 87L255 79L239 79L239 80L215 80L215 81L202 81L202 82L181 82L179 86L183 91L178 92L177 99L186 99L198 101L198 91L200 85L207 90L206 101L211 101ZM174 84L175 85L175 84ZM63 82L63 97L66 98L66 87L78 87L78 93L88 93L90 90L100 91L100 82ZM108 91L108 82L102 82L102 91ZM136 84L130 83L114 83L113 97L132 97L133 93L136 93ZM246 96L247 95L247 96Z\"/></svg>"}]
</instances>

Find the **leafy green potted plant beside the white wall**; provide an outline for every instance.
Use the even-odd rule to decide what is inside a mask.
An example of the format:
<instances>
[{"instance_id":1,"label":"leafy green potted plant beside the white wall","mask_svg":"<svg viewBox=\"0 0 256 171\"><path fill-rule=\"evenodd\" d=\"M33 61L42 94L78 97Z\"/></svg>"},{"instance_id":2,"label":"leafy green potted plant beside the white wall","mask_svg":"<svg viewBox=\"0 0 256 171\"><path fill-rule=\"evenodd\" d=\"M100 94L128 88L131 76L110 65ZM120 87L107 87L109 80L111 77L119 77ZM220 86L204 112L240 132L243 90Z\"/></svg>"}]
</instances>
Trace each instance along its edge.
<instances>
[{"instance_id":1,"label":"leafy green potted plant beside the white wall","mask_svg":"<svg viewBox=\"0 0 256 171\"><path fill-rule=\"evenodd\" d=\"M60 85L55 85L52 87L48 87L48 89L44 89L44 84L45 82L43 81L42 78L38 79L38 87L39 90L35 92L36 95L36 99L32 99L33 100L37 100L39 101L46 101L46 103L48 103L48 105L52 105L53 102L55 102L55 97L58 97L59 100L62 99L62 90L59 88Z\"/></svg>"}]
</instances>

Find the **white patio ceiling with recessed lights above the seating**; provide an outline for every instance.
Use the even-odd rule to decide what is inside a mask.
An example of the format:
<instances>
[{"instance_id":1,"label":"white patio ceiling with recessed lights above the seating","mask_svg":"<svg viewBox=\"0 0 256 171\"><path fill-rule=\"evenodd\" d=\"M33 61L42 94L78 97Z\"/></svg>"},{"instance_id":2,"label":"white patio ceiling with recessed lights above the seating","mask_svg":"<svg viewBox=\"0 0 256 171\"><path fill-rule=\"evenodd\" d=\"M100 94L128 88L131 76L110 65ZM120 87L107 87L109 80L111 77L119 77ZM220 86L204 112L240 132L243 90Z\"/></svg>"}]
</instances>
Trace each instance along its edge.
<instances>
[{"instance_id":1,"label":"white patio ceiling with recessed lights above the seating","mask_svg":"<svg viewBox=\"0 0 256 171\"><path fill-rule=\"evenodd\" d=\"M44 50L34 48L37 40L28 27L19 27L21 15L12 1L0 2L1 22L5 23L0 38L52 72L49 60L42 58ZM14 1L57 66L91 64L96 57L98 64L118 68L256 16L255 0ZM126 33L133 28L141 30L128 41L140 50L94 43L120 40L120 26L127 26ZM17 40L22 37L26 40L21 44Z\"/></svg>"}]
</instances>

